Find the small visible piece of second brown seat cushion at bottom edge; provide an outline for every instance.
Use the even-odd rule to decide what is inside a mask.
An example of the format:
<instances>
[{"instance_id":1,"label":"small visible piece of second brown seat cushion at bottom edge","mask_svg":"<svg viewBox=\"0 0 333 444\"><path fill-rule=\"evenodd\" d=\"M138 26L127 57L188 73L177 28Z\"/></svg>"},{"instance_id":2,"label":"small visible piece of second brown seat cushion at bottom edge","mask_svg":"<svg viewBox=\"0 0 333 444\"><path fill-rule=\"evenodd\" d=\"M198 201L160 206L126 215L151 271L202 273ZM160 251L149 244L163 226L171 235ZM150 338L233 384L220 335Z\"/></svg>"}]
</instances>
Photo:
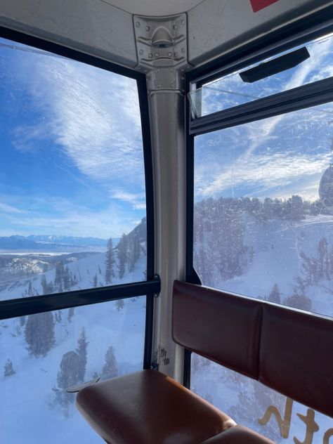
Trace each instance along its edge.
<instances>
[{"instance_id":1,"label":"small visible piece of second brown seat cushion at bottom edge","mask_svg":"<svg viewBox=\"0 0 333 444\"><path fill-rule=\"evenodd\" d=\"M235 426L223 433L205 440L202 444L274 444L259 433L244 426Z\"/></svg>"}]
</instances>

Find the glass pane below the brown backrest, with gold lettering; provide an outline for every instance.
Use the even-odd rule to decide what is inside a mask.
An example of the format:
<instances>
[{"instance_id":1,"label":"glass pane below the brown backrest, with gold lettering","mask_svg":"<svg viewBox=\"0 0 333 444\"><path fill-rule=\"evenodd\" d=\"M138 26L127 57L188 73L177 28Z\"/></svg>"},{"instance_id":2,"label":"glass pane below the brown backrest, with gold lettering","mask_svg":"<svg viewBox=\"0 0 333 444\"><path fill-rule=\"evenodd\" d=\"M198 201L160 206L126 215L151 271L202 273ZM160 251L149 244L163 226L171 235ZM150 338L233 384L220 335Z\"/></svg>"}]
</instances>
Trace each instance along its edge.
<instances>
[{"instance_id":1,"label":"glass pane below the brown backrest, with gold lettering","mask_svg":"<svg viewBox=\"0 0 333 444\"><path fill-rule=\"evenodd\" d=\"M195 353L191 364L191 390L274 443L329 444L332 440L332 418Z\"/></svg>"}]
</instances>

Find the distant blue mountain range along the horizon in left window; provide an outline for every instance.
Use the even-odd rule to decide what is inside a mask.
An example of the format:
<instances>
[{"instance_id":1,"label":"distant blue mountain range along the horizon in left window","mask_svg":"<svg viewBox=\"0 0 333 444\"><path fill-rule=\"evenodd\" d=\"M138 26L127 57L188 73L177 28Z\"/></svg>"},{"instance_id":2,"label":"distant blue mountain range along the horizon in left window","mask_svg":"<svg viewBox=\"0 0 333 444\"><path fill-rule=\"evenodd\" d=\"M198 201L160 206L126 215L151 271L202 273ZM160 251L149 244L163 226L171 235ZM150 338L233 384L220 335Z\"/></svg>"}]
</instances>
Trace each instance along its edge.
<instances>
[{"instance_id":1,"label":"distant blue mountain range along the horizon in left window","mask_svg":"<svg viewBox=\"0 0 333 444\"><path fill-rule=\"evenodd\" d=\"M119 238L113 239L117 245ZM60 252L72 249L103 249L107 239L98 237L72 237L55 235L30 235L30 236L4 236L0 237L0 250L29 250Z\"/></svg>"}]
</instances>

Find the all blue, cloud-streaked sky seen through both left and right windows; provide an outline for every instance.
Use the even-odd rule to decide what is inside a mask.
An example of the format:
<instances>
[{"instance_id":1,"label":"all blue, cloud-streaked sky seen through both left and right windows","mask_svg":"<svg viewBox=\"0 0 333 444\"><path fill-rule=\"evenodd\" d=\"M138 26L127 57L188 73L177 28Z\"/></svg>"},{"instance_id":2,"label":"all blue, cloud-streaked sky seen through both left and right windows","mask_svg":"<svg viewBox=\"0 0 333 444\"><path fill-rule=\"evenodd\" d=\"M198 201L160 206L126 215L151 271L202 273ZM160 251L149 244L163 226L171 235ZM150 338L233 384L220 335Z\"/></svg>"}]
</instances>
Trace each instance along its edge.
<instances>
[{"instance_id":1,"label":"all blue, cloud-streaked sky seen through both left and right windows","mask_svg":"<svg viewBox=\"0 0 333 444\"><path fill-rule=\"evenodd\" d=\"M248 100L238 93L266 96L332 76L332 48L332 37L315 41L311 58L254 84L235 73L204 86L204 114ZM0 235L119 237L145 216L133 79L0 39L0 122ZM325 104L198 136L196 199L317 199L332 122Z\"/></svg>"}]
</instances>

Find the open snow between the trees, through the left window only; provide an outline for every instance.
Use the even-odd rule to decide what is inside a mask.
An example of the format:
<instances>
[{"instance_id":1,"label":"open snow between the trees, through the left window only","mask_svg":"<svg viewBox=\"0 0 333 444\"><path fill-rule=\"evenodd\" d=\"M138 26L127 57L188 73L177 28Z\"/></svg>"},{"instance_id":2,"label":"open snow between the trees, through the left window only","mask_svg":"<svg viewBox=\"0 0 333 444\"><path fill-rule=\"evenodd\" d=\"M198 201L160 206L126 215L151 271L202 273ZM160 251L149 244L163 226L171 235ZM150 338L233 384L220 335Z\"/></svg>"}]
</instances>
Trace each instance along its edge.
<instances>
[{"instance_id":1,"label":"open snow between the trees, through the left window only","mask_svg":"<svg viewBox=\"0 0 333 444\"><path fill-rule=\"evenodd\" d=\"M117 256L117 255L116 255ZM118 274L115 258L113 284L145 279L144 248L133 270ZM76 276L70 289L91 288L97 276L97 286L105 285L105 253L93 254L67 264L67 274ZM55 282L55 268L18 280L0 292L0 299L43 294L41 278ZM55 289L55 288L54 288ZM31 294L32 293L32 294ZM105 353L110 346L115 351L117 374L141 370L145 334L145 296L63 310L53 313L55 345L46 356L35 357L28 351L25 325L20 318L0 321L0 442L93 444L102 440L86 424L74 406L61 405L53 389L59 389L57 375L63 355L75 351L84 328L87 362L84 381L103 374ZM34 315L41 316L41 315ZM15 374L5 376L5 366L11 361Z\"/></svg>"}]
</instances>

